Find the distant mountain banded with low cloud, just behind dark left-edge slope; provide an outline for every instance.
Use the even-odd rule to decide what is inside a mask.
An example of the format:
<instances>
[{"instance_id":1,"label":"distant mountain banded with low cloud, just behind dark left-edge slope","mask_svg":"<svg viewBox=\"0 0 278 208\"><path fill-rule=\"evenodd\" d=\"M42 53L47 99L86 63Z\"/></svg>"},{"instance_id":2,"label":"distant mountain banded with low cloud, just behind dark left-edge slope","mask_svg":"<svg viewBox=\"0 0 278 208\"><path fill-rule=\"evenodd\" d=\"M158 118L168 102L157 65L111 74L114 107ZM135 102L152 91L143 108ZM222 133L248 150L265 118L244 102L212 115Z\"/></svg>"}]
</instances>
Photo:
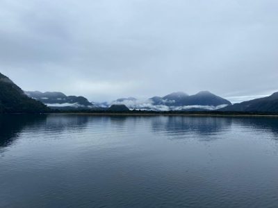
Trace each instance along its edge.
<instances>
[{"instance_id":1,"label":"distant mountain banded with low cloud, just behind dark left-edge slope","mask_svg":"<svg viewBox=\"0 0 278 208\"><path fill-rule=\"evenodd\" d=\"M25 92L31 98L56 109L89 109L95 107L83 96L66 96L62 92Z\"/></svg>"}]
</instances>

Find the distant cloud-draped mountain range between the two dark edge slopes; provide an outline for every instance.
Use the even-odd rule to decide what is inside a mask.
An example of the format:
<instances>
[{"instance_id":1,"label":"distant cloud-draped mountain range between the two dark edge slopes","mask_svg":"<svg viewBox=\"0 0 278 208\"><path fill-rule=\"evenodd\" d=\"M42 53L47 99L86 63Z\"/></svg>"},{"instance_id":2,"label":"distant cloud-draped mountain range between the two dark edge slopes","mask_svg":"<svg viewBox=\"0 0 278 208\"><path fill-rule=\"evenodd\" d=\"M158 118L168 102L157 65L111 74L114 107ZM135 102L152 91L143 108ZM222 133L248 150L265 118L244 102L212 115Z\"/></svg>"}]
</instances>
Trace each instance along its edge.
<instances>
[{"instance_id":1,"label":"distant cloud-draped mountain range between the two dark edge slopes","mask_svg":"<svg viewBox=\"0 0 278 208\"><path fill-rule=\"evenodd\" d=\"M210 92L199 92L189 96L183 92L174 92L163 97L154 96L147 100L139 101L136 98L118 98L111 103L90 103L83 96L66 96L62 92L25 92L26 95L41 101L53 109L100 109L111 105L126 105L131 110L217 110L231 103L220 96Z\"/></svg>"}]
</instances>

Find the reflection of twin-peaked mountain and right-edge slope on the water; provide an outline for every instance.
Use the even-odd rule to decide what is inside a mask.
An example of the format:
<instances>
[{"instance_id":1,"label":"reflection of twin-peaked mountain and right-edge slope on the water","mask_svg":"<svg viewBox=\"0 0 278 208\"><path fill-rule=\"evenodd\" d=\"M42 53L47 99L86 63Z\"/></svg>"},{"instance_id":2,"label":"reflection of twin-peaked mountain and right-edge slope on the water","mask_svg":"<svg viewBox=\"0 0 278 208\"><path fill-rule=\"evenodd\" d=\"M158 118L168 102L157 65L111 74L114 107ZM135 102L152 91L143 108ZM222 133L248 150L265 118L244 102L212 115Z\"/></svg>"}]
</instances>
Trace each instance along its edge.
<instances>
[{"instance_id":1,"label":"reflection of twin-peaked mountain and right-edge slope on the water","mask_svg":"<svg viewBox=\"0 0 278 208\"><path fill-rule=\"evenodd\" d=\"M152 130L158 134L168 135L171 139L194 137L195 134L207 136L211 140L220 132L235 127L252 128L271 132L278 139L277 117L202 117L202 116L159 116L152 119Z\"/></svg>"}]
</instances>

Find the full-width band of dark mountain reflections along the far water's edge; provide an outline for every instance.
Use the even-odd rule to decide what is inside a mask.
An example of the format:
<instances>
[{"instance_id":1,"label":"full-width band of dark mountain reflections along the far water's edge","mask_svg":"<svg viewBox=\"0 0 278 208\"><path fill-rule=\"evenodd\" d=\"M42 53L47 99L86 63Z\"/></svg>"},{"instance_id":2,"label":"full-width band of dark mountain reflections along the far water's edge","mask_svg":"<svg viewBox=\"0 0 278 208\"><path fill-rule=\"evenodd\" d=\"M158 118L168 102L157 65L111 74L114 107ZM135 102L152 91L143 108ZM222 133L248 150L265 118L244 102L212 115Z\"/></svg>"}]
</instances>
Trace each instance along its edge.
<instances>
[{"instance_id":1,"label":"full-width band of dark mountain reflections along the far water's edge","mask_svg":"<svg viewBox=\"0 0 278 208\"><path fill-rule=\"evenodd\" d=\"M10 146L22 132L56 134L83 132L87 128L101 131L129 131L142 128L184 139L202 135L204 140L221 135L236 126L271 132L278 139L278 118L271 117L202 117L202 116L88 116L78 114L2 114L0 115L0 148Z\"/></svg>"}]
</instances>

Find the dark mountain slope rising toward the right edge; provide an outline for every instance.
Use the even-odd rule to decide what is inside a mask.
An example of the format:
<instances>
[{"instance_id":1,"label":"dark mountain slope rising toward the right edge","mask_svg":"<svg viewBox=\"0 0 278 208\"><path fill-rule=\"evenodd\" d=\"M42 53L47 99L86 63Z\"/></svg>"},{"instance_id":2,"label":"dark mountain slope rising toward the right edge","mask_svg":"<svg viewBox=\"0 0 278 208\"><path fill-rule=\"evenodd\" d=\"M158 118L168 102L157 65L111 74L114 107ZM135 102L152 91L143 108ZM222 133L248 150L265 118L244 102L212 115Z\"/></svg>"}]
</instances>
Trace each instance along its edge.
<instances>
[{"instance_id":1,"label":"dark mountain slope rising toward the right edge","mask_svg":"<svg viewBox=\"0 0 278 208\"><path fill-rule=\"evenodd\" d=\"M278 92L264 98L236 103L221 108L219 111L234 112L278 112Z\"/></svg>"}]
</instances>

